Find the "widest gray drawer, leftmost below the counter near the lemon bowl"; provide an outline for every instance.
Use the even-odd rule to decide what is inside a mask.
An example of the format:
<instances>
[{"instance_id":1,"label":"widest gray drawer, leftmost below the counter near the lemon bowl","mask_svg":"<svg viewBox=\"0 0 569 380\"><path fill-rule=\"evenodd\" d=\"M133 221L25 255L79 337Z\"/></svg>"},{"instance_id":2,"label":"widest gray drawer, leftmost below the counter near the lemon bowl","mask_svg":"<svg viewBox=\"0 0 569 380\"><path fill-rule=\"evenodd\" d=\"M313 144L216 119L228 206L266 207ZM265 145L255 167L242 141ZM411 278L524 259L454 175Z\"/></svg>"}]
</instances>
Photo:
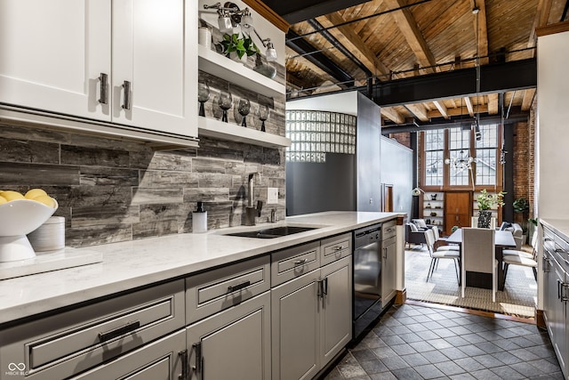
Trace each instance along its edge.
<instances>
[{"instance_id":1,"label":"widest gray drawer, leftmost below the counter near the lemon bowl","mask_svg":"<svg viewBox=\"0 0 569 380\"><path fill-rule=\"evenodd\" d=\"M64 378L183 327L184 311L180 279L0 331L0 356L28 378Z\"/></svg>"}]
</instances>

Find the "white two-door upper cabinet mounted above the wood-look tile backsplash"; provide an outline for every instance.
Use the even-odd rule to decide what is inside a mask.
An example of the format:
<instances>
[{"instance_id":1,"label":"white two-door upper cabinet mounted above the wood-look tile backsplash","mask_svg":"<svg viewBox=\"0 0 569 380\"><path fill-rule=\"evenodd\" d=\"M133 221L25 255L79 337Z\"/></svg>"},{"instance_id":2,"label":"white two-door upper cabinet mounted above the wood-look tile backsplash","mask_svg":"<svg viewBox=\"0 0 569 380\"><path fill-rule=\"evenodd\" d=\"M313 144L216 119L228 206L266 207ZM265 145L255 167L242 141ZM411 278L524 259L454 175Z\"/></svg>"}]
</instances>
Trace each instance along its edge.
<instances>
[{"instance_id":1,"label":"white two-door upper cabinet mounted above the wood-look tile backsplash","mask_svg":"<svg viewBox=\"0 0 569 380\"><path fill-rule=\"evenodd\" d=\"M0 0L0 101L197 136L197 9L187 3Z\"/></svg>"}]
</instances>

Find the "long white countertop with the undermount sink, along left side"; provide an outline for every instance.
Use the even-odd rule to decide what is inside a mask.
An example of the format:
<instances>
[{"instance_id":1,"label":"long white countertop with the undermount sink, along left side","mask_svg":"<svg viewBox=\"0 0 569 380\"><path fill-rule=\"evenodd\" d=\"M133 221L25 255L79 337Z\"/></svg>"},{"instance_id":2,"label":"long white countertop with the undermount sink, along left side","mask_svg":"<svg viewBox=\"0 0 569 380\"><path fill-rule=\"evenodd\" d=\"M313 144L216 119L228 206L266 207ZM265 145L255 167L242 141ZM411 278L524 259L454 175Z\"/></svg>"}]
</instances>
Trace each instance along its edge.
<instances>
[{"instance_id":1,"label":"long white countertop with the undermount sink, along left side","mask_svg":"<svg viewBox=\"0 0 569 380\"><path fill-rule=\"evenodd\" d=\"M325 212L288 217L283 222L257 224L254 227L240 226L203 234L168 235L79 248L100 252L103 255L102 263L0 280L0 324L267 254L397 216L405 214ZM307 224L321 228L276 239L221 235L282 224Z\"/></svg>"}]
</instances>

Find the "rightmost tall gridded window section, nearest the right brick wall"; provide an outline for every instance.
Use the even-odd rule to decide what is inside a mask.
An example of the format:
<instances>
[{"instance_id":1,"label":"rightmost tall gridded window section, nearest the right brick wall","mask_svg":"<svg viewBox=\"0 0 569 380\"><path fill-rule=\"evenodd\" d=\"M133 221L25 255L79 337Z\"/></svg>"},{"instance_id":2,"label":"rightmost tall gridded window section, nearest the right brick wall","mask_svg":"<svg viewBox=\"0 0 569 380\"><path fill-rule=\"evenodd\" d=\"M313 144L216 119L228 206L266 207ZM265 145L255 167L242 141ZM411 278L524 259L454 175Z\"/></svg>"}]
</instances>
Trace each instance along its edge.
<instances>
[{"instance_id":1,"label":"rightmost tall gridded window section, nearest the right brick wall","mask_svg":"<svg viewBox=\"0 0 569 380\"><path fill-rule=\"evenodd\" d=\"M477 185L496 184L496 151L498 148L498 125L480 125L480 140L476 141Z\"/></svg>"}]
</instances>

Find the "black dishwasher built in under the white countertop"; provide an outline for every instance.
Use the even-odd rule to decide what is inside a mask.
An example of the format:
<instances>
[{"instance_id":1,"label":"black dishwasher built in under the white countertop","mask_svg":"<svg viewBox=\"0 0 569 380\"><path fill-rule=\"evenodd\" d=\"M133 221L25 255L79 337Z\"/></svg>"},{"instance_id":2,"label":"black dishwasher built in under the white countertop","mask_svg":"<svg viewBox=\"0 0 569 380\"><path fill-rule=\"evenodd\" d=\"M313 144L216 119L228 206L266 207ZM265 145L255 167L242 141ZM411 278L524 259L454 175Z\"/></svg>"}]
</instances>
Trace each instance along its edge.
<instances>
[{"instance_id":1,"label":"black dishwasher built in under the white countertop","mask_svg":"<svg viewBox=\"0 0 569 380\"><path fill-rule=\"evenodd\" d=\"M381 314L381 223L354 230L353 337Z\"/></svg>"}]
</instances>

